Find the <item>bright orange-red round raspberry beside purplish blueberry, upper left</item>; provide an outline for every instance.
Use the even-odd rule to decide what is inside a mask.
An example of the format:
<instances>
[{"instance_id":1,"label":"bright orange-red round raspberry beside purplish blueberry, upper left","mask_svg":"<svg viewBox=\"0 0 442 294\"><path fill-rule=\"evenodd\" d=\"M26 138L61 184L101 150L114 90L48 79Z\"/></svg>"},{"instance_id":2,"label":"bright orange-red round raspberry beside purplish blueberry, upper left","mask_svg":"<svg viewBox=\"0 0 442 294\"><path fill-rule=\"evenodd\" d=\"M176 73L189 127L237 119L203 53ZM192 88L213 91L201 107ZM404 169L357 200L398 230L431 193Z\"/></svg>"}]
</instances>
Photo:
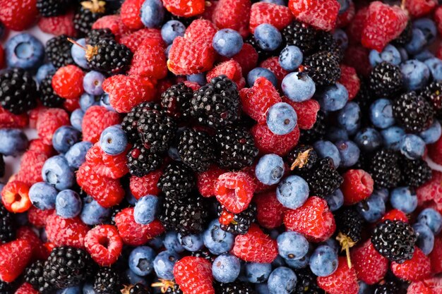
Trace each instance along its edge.
<instances>
[{"instance_id":1,"label":"bright orange-red round raspberry beside purplish blueberry, upper left","mask_svg":"<svg viewBox=\"0 0 442 294\"><path fill-rule=\"evenodd\" d=\"M85 74L78 66L63 66L52 77L52 87L59 97L74 99L83 94L83 78Z\"/></svg>"}]
</instances>

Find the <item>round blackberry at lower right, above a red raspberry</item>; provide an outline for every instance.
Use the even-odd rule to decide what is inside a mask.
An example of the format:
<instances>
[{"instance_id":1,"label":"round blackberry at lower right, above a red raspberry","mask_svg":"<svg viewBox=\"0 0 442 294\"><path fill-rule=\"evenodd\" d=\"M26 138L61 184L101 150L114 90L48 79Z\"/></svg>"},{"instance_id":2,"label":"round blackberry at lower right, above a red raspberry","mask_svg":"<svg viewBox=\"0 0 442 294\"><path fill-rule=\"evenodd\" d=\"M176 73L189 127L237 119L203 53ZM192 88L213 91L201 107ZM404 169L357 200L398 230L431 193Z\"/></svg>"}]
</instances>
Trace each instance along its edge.
<instances>
[{"instance_id":1,"label":"round blackberry at lower right, above a red raspberry","mask_svg":"<svg viewBox=\"0 0 442 294\"><path fill-rule=\"evenodd\" d=\"M391 262L399 264L412 259L416 239L410 224L389 219L378 223L371 235L375 249Z\"/></svg>"}]
</instances>

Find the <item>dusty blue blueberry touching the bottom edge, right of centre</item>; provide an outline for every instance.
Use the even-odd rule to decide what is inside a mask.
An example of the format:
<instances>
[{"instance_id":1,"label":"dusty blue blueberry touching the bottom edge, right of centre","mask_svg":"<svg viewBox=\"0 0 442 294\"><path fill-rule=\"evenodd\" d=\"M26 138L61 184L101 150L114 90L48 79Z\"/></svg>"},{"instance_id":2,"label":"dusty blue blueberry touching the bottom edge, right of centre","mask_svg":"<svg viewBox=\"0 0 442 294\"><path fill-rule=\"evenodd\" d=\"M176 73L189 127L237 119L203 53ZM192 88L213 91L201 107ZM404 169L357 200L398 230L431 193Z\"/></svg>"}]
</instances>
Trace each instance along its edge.
<instances>
[{"instance_id":1,"label":"dusty blue blueberry touching the bottom edge, right of centre","mask_svg":"<svg viewBox=\"0 0 442 294\"><path fill-rule=\"evenodd\" d=\"M268 277L267 285L271 294L292 293L297 284L297 276L288 267L277 267Z\"/></svg>"}]
</instances>

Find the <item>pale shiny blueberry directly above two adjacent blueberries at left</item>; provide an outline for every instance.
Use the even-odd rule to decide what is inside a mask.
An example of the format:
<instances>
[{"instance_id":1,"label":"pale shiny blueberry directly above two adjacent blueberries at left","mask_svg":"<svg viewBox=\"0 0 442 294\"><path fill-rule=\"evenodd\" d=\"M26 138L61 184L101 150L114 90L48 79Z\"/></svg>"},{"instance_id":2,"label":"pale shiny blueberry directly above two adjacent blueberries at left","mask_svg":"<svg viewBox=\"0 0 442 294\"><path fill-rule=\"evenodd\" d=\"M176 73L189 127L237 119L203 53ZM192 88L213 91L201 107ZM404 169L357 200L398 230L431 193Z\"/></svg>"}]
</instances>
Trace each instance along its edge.
<instances>
[{"instance_id":1,"label":"pale shiny blueberry directly above two adjacent blueberries at left","mask_svg":"<svg viewBox=\"0 0 442 294\"><path fill-rule=\"evenodd\" d=\"M71 188L75 180L68 161L62 155L56 155L44 162L42 177L46 183L53 185L57 190Z\"/></svg>"}]
</instances>

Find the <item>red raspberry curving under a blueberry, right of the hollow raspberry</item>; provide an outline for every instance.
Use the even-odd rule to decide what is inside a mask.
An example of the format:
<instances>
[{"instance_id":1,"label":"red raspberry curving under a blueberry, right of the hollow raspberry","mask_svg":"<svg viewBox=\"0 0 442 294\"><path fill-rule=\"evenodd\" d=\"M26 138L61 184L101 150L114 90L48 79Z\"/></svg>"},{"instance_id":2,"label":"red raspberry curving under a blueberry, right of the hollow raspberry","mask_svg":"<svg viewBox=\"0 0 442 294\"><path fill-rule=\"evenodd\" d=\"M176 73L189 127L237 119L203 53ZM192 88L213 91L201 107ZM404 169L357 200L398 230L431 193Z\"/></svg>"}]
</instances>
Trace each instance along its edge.
<instances>
[{"instance_id":1,"label":"red raspberry curving under a blueberry, right of the hollow raspberry","mask_svg":"<svg viewBox=\"0 0 442 294\"><path fill-rule=\"evenodd\" d=\"M115 216L115 225L118 228L119 235L124 244L131 246L140 246L164 233L165 228L161 222L155 219L148 225L136 223L133 219L133 207L128 207Z\"/></svg>"}]
</instances>

